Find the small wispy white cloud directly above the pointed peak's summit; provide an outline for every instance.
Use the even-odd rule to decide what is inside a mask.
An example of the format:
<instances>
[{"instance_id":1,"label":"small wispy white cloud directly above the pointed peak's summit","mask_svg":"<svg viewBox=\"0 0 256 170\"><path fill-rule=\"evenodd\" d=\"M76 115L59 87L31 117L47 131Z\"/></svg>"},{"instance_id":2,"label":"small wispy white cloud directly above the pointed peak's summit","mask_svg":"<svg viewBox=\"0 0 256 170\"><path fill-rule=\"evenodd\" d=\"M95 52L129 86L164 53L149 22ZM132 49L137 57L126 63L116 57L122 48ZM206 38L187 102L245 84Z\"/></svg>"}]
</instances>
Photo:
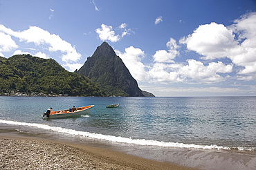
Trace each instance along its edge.
<instances>
[{"instance_id":1,"label":"small wispy white cloud directly above the pointed peak's summit","mask_svg":"<svg viewBox=\"0 0 256 170\"><path fill-rule=\"evenodd\" d=\"M101 24L101 28L97 28L95 32L98 33L98 37L100 37L100 40L106 41L109 40L111 42L117 42L122 39L125 35L129 35L129 32L131 32L131 29L127 28L127 23L122 23L119 27L122 32L120 35L116 35L116 32L113 30L112 26L107 26L104 23Z\"/></svg>"}]
</instances>

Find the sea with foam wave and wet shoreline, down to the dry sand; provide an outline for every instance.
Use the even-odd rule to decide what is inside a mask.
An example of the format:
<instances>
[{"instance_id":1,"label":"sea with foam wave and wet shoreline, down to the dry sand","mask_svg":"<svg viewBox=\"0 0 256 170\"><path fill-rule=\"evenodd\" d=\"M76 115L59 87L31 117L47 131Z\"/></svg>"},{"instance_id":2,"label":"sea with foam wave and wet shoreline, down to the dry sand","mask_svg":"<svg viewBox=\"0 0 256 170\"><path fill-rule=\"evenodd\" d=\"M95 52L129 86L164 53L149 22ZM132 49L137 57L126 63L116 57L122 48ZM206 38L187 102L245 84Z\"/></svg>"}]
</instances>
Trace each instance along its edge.
<instances>
[{"instance_id":1,"label":"sea with foam wave and wet shoreline, down to the dry sand","mask_svg":"<svg viewBox=\"0 0 256 170\"><path fill-rule=\"evenodd\" d=\"M118 108L106 108L109 104ZM88 115L43 120L94 105ZM197 169L256 169L256 97L0 96L0 133L75 142Z\"/></svg>"}]
</instances>

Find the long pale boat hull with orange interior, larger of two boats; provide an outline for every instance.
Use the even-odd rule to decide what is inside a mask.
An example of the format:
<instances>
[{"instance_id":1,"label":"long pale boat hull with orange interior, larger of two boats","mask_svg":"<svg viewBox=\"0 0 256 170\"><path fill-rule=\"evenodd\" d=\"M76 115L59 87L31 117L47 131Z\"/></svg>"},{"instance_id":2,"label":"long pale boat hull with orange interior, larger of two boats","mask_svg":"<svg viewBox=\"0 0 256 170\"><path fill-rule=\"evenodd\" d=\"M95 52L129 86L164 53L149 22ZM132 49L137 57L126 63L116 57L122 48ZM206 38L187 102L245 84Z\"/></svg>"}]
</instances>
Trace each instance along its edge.
<instances>
[{"instance_id":1,"label":"long pale boat hull with orange interior, larger of two boats","mask_svg":"<svg viewBox=\"0 0 256 170\"><path fill-rule=\"evenodd\" d=\"M77 108L75 112L69 112L69 109L64 111L52 111L50 116L47 117L46 115L42 115L43 119L58 119L58 118L70 118L70 117L80 117L81 115L88 115L93 108L94 105L84 106Z\"/></svg>"}]
</instances>

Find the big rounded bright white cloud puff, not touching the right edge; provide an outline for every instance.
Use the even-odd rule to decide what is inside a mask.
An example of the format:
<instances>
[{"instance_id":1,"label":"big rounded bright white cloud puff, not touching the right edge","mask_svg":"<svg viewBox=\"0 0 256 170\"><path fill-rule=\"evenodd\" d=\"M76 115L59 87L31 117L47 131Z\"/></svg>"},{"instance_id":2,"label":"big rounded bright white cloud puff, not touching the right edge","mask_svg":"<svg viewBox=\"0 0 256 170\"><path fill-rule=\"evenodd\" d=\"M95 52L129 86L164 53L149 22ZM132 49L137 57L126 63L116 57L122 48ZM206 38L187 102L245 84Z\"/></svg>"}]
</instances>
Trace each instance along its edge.
<instances>
[{"instance_id":1,"label":"big rounded bright white cloud puff, not touching the right edge","mask_svg":"<svg viewBox=\"0 0 256 170\"><path fill-rule=\"evenodd\" d=\"M232 30L222 24L210 23L199 26L192 35L181 39L181 44L186 44L188 50L194 50L203 55L203 59L219 59L227 57L230 48L235 48L237 42Z\"/></svg>"}]
</instances>

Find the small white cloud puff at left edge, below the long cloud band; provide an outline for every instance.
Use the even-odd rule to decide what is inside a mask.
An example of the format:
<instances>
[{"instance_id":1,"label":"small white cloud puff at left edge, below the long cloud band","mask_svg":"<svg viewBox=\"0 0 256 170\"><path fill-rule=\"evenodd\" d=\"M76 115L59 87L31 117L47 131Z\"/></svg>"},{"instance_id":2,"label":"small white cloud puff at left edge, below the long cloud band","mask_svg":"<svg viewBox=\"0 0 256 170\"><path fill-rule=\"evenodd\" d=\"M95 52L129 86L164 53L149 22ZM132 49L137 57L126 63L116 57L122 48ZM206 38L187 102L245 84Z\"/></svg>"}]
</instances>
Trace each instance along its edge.
<instances>
[{"instance_id":1,"label":"small white cloud puff at left edge, below the long cloud band","mask_svg":"<svg viewBox=\"0 0 256 170\"><path fill-rule=\"evenodd\" d=\"M12 37L0 32L0 52L8 52L10 50L14 50L15 48L18 48L18 46L15 41L12 40Z\"/></svg>"}]
</instances>

